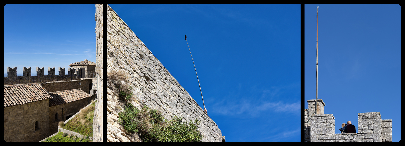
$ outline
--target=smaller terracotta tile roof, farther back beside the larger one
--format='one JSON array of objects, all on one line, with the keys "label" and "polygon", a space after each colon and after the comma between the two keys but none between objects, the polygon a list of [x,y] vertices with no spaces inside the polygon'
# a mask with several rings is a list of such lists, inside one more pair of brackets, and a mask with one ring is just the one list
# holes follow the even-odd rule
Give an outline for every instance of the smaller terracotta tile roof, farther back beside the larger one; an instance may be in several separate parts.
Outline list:
[{"label": "smaller terracotta tile roof, farther back beside the larger one", "polygon": [[49,106],[57,106],[61,104],[66,104],[76,100],[91,97],[91,95],[85,93],[81,89],[72,89],[64,91],[50,92],[52,99],[49,100]]}]

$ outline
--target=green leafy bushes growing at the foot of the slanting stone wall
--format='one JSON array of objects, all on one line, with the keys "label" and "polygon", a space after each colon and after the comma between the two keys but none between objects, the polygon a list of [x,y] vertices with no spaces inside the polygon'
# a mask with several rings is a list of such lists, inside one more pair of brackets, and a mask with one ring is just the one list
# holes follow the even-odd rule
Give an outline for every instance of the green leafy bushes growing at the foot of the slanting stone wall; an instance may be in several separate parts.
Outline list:
[{"label": "green leafy bushes growing at the foot of the slanting stone wall", "polygon": [[182,117],[172,116],[172,120],[167,121],[158,110],[146,105],[138,110],[130,103],[119,113],[119,124],[140,135],[143,142],[200,142],[203,136],[198,130],[198,120],[185,123],[182,120]]}]

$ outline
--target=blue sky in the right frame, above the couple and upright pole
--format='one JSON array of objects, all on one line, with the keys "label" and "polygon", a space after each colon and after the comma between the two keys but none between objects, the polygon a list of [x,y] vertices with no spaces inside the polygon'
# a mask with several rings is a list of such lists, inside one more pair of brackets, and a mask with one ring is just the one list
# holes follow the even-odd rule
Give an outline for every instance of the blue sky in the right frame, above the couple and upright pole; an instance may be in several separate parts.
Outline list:
[{"label": "blue sky in the right frame, above the couple and upright pole", "polygon": [[[305,4],[305,108],[315,99],[316,6],[318,99],[325,114],[358,127],[357,113],[392,119],[392,142],[401,140],[401,6]],[[356,129],[357,131],[357,129]]]}]

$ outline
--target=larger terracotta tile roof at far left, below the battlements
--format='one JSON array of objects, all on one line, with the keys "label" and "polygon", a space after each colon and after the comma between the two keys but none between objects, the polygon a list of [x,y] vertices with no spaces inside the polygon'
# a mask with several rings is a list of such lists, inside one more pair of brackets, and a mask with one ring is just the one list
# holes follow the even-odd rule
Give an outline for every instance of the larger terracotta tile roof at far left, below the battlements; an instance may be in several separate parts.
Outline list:
[{"label": "larger terracotta tile roof at far left, below the battlements", "polygon": [[4,108],[51,98],[41,84],[4,85]]}]

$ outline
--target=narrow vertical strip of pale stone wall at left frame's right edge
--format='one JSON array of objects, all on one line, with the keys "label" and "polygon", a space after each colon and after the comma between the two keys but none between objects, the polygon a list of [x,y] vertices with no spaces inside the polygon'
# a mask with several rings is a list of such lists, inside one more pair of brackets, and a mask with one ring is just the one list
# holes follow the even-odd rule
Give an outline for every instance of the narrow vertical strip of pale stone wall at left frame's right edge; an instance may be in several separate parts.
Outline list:
[{"label": "narrow vertical strip of pale stone wall at left frame's right edge", "polygon": [[103,142],[103,4],[96,4],[96,88],[97,88],[97,105],[94,107],[93,122],[93,142]]}]

